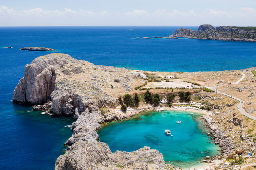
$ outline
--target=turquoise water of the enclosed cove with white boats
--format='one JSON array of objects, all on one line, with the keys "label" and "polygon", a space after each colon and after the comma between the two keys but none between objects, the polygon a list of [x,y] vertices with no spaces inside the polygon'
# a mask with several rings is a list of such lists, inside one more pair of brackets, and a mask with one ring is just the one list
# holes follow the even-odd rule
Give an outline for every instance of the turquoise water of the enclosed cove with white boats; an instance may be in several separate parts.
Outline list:
[{"label": "turquoise water of the enclosed cove with white boats", "polygon": [[[206,135],[209,129],[202,114],[184,111],[146,112],[135,118],[110,122],[98,131],[101,142],[116,150],[134,151],[149,146],[163,154],[164,161],[175,167],[198,165],[203,158],[220,154],[220,147]],[[181,121],[177,124],[176,121]],[[164,133],[171,131],[171,136]]]}]

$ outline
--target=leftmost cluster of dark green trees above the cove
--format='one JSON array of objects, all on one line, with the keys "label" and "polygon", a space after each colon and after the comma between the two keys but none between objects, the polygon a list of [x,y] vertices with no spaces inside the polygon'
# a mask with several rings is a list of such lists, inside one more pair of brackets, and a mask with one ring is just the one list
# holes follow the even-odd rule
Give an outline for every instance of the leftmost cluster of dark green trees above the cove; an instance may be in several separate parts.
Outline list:
[{"label": "leftmost cluster of dark green trees above the cove", "polygon": [[131,94],[125,94],[123,96],[123,100],[122,100],[122,97],[119,96],[118,102],[121,105],[121,110],[126,111],[128,106],[131,106],[131,107],[139,106],[139,96],[137,93],[135,93],[133,97]]}]

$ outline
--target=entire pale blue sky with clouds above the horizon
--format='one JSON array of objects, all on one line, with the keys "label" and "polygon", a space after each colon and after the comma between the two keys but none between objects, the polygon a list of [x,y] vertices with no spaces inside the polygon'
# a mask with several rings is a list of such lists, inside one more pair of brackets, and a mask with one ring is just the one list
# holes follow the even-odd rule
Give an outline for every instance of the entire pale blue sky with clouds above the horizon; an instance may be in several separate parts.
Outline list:
[{"label": "entire pale blue sky with clouds above the horizon", "polygon": [[1,0],[0,26],[256,26],[256,0]]}]

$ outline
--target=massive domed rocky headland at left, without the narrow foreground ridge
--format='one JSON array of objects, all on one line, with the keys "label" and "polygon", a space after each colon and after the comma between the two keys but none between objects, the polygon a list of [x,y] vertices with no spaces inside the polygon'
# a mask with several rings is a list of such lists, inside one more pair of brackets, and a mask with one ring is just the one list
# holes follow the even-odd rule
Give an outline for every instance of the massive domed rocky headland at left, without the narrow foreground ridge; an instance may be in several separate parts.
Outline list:
[{"label": "massive domed rocky headland at left, without the narrow foreground ridge", "polygon": [[[126,69],[113,72],[112,67],[95,66],[67,54],[41,56],[25,66],[24,77],[20,79],[12,98],[14,102],[31,104],[48,101],[57,115],[72,115],[75,110],[78,113],[86,109],[98,110],[103,105],[114,108],[116,98],[106,92],[114,88],[130,90],[128,82],[138,77],[130,76]],[[118,76],[121,72],[127,75]],[[118,82],[115,82],[116,79]]]}]

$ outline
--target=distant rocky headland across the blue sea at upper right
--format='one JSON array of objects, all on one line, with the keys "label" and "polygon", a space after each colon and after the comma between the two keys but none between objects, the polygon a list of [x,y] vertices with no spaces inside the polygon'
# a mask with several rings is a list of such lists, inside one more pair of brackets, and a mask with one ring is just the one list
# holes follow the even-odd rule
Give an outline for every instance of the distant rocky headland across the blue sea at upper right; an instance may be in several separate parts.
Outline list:
[{"label": "distant rocky headland across the blue sea at upper right", "polygon": [[172,36],[207,40],[256,42],[256,27],[200,25],[198,31],[186,28],[177,29]]}]

